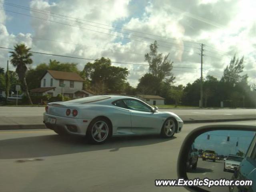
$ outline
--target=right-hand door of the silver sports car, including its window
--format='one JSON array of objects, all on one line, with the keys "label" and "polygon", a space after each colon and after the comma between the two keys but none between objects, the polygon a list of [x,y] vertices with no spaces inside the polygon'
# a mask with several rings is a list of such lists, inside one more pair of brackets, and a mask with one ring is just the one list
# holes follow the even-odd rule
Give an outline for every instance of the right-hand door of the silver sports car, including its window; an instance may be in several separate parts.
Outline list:
[{"label": "right-hand door of the silver sports car, including its window", "polygon": [[132,132],[136,134],[160,133],[162,119],[147,104],[136,99],[124,99],[131,112]]}]

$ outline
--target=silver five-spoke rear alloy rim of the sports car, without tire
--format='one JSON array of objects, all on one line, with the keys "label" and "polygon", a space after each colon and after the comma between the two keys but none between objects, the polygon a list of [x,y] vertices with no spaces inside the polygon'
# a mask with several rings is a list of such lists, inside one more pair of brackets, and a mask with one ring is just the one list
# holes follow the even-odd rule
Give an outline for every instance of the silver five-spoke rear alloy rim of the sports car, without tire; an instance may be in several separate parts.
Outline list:
[{"label": "silver five-spoke rear alloy rim of the sports car, without tire", "polygon": [[92,126],[92,138],[97,142],[102,142],[108,137],[108,124],[104,121],[97,121]]}]

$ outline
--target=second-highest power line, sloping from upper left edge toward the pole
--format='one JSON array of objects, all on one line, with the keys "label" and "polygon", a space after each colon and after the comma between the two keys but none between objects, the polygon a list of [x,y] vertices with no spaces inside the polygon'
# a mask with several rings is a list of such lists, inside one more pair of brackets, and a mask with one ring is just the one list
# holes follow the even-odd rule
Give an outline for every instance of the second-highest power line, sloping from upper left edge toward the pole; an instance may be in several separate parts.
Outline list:
[{"label": "second-highest power line, sloping from upper left edge toward the pole", "polygon": [[[98,32],[98,33],[101,33],[101,34],[115,36],[115,37],[118,37],[118,38],[129,39],[129,40],[133,40],[133,41],[142,42],[142,43],[145,43],[145,44],[152,44],[150,42],[145,42],[145,41],[141,41],[141,40],[137,40],[137,39],[132,39],[132,38],[128,38],[128,37],[118,36],[118,35],[114,35],[114,34],[110,34],[110,33],[100,32],[100,31],[96,31],[96,30],[92,30],[92,29],[82,28],[80,26],[74,26],[74,25],[70,25],[70,24],[66,24],[66,23],[62,23],[62,22],[57,22],[57,21],[53,21],[53,20],[48,20],[48,19],[36,17],[36,16],[31,16],[31,15],[27,15],[27,14],[23,14],[23,13],[18,13],[18,12],[15,12],[15,11],[5,10],[5,9],[1,9],[1,8],[0,8],[0,10],[4,10],[6,12],[12,12],[12,13],[16,13],[16,14],[32,17],[32,18],[37,18],[37,19],[41,19],[41,20],[45,20],[45,21],[50,21],[50,22],[54,22],[54,23],[58,23],[58,24],[63,24],[63,25],[66,25],[66,26],[72,26],[72,27],[76,27],[76,28],[80,28],[80,29],[84,29],[84,30],[89,30],[89,31],[92,31],[92,32]],[[158,46],[170,48],[169,46],[164,46],[164,45],[160,45],[160,44],[158,44]],[[181,51],[184,51],[184,52],[190,52],[190,51],[187,51],[187,50],[182,50],[182,49],[177,49],[177,48],[171,48],[171,49],[181,50]]]}]

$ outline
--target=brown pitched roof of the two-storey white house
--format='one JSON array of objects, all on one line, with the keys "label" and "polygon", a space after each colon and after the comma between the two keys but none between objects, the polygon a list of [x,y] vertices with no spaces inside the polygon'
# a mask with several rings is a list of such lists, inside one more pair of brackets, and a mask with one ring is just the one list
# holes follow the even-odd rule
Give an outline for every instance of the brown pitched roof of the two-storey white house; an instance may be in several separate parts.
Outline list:
[{"label": "brown pitched roof of the two-storey white house", "polygon": [[[71,81],[84,81],[82,77],[80,77],[75,72],[65,72],[65,71],[53,71],[47,70],[46,73],[49,73],[54,79],[62,79],[62,80],[71,80]],[[45,74],[46,74],[45,73]],[[44,74],[44,76],[45,76]],[[44,77],[43,76],[43,77]],[[42,78],[43,78],[42,77]],[[42,79],[41,78],[41,79]]]}]

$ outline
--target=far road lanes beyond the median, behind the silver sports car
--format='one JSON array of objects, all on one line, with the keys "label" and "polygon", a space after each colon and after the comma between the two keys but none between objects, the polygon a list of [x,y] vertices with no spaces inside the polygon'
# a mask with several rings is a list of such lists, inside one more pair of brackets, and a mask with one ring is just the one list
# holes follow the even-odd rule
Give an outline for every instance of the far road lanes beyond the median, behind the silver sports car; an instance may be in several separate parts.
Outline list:
[{"label": "far road lanes beyond the median, behind the silver sports car", "polygon": [[[255,118],[256,109],[160,109],[174,112],[184,121]],[[0,107],[1,125],[42,125],[44,107]]]}]

